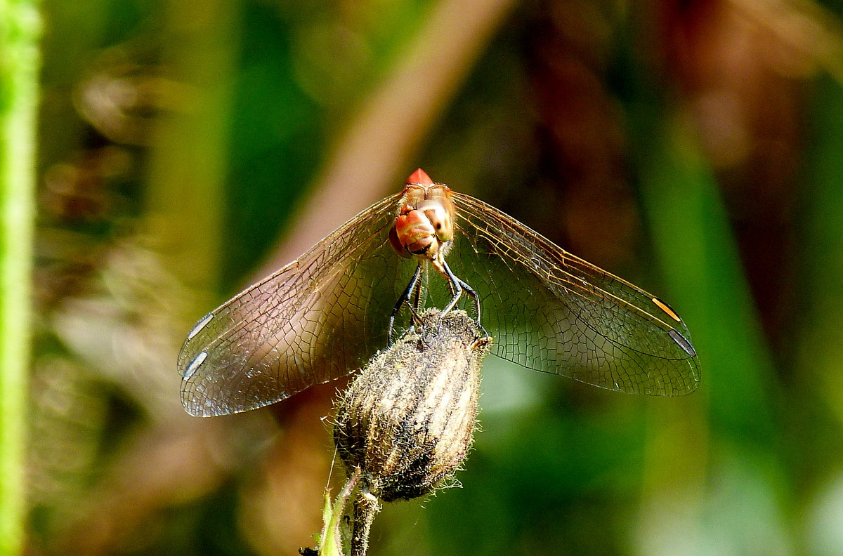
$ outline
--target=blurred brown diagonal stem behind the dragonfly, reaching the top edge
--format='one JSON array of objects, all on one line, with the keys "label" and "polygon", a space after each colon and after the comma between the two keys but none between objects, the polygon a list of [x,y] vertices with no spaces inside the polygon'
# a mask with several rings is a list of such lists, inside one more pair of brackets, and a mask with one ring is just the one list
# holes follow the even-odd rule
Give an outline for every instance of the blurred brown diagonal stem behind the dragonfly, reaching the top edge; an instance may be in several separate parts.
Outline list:
[{"label": "blurred brown diagonal stem behind the dragonfly, reaching the top edge", "polygon": [[396,179],[416,169],[407,160],[448,107],[512,4],[441,0],[416,29],[409,29],[412,40],[404,56],[362,102],[359,115],[327,158],[313,194],[295,218],[295,235],[279,245],[256,277],[286,265],[373,200],[398,192],[403,179]]}]

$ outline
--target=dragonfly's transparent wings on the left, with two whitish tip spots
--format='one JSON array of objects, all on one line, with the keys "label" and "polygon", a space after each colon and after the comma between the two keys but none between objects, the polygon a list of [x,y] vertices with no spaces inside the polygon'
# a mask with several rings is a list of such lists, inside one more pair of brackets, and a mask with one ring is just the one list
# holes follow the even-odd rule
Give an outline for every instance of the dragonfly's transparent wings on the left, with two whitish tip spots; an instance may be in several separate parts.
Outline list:
[{"label": "dragonfly's transparent wings on the left, with two whitish tip spots", "polygon": [[380,200],[201,318],[179,354],[185,409],[220,415],[272,404],[345,376],[384,348],[389,315],[417,264],[389,245],[399,200]]}]

